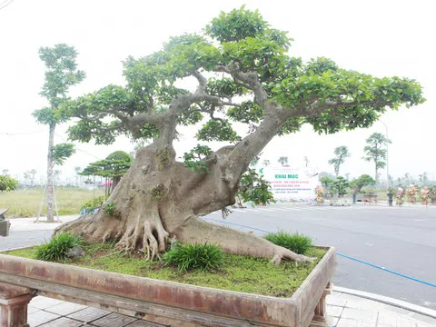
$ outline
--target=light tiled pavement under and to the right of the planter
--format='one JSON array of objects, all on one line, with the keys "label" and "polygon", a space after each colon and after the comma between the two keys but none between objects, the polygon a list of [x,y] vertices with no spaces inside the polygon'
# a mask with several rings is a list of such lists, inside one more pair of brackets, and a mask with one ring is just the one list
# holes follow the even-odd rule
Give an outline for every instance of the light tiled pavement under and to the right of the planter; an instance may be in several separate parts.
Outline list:
[{"label": "light tiled pavement under and to the right of the planter", "polygon": [[[436,319],[404,309],[332,292],[327,312],[336,327],[435,327]],[[31,327],[162,327],[122,314],[38,296],[29,304]]]}]

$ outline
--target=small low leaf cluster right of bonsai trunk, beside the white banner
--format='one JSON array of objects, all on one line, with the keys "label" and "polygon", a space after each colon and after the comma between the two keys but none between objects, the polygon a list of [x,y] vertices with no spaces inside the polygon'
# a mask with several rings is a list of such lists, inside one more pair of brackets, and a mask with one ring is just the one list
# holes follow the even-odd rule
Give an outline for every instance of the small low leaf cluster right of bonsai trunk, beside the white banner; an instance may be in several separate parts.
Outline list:
[{"label": "small low leaf cluster right of bonsai trunk, beside the white banner", "polygon": [[263,175],[249,168],[241,177],[237,194],[243,202],[253,202],[256,205],[275,203],[273,194],[268,191],[270,188],[271,184],[263,179]]}]

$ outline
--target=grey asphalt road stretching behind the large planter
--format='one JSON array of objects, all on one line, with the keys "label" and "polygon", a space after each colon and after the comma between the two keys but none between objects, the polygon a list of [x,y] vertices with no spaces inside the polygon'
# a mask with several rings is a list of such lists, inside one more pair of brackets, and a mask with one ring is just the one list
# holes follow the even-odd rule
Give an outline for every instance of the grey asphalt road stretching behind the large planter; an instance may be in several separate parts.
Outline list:
[{"label": "grey asphalt road stretching behind the large planter", "polygon": [[[221,213],[212,213],[205,219],[223,222]],[[0,238],[0,249],[43,242],[54,228],[44,223],[22,227],[11,222],[11,233]],[[316,207],[283,203],[234,210],[224,222],[271,232],[282,229],[305,233],[312,236],[313,243],[335,246],[338,253],[436,283],[435,207]],[[342,257],[338,257],[333,282],[436,310],[436,288]]]}]

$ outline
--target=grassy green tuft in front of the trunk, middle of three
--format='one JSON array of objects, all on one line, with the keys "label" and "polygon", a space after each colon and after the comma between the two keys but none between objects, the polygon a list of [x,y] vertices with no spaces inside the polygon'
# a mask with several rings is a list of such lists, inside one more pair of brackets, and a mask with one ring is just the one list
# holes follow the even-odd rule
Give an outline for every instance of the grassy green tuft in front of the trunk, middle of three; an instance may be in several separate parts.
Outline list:
[{"label": "grassy green tuft in front of the trunk, middle of three", "polygon": [[166,264],[176,266],[181,272],[217,269],[223,264],[223,260],[223,250],[207,243],[177,245],[163,255]]}]

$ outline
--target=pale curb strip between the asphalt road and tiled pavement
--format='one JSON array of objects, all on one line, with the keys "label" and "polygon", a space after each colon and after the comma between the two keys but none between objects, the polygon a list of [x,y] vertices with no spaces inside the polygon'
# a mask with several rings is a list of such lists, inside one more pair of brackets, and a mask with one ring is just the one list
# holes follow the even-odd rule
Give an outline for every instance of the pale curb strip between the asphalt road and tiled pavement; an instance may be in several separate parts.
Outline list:
[{"label": "pale curb strip between the asphalt road and tiled pavement", "polygon": [[362,297],[364,299],[372,300],[375,302],[389,304],[391,306],[395,306],[395,307],[405,309],[405,310],[408,310],[411,312],[420,313],[422,315],[426,315],[428,317],[436,319],[436,311],[434,311],[434,310],[422,307],[420,305],[412,304],[409,302],[393,299],[393,298],[390,298],[388,296],[374,294],[371,292],[362,292],[362,291],[352,290],[352,289],[348,289],[345,287],[339,287],[336,285],[333,286],[333,292],[342,292],[344,294],[350,294],[350,295]]}]

